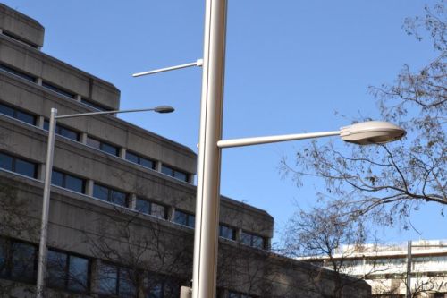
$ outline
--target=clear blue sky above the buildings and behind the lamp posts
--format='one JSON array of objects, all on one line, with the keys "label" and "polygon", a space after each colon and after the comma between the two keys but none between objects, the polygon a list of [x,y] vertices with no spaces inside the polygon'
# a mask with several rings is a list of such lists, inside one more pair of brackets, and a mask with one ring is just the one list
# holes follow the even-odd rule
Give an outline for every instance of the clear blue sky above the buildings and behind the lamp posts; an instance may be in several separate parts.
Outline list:
[{"label": "clear blue sky above the buildings and behind the lamp posts", "polygon": [[[203,0],[3,0],[46,28],[43,51],[121,89],[121,108],[168,104],[172,115],[124,120],[197,151],[201,70],[150,77],[131,73],[195,61],[202,55]],[[402,30],[424,4],[409,0],[229,0],[224,138],[337,130],[358,116],[377,118],[369,85],[391,83],[402,64],[434,57],[429,43]],[[344,115],[344,116],[343,116]],[[315,203],[316,181],[297,188],[282,178],[283,156],[303,143],[227,149],[221,192],[266,209],[280,238],[295,202]],[[422,233],[386,230],[386,241],[447,238],[433,205],[414,213]],[[436,228],[437,227],[437,228]],[[441,228],[440,228],[441,227]]]}]

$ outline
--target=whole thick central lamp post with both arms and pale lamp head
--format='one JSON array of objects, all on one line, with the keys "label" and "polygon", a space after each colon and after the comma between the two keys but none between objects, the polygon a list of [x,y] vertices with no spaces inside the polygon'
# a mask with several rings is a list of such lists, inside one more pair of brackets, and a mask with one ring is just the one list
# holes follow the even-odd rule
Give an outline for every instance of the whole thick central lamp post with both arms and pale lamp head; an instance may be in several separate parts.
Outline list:
[{"label": "whole thick central lamp post with both arms and pale lamp head", "polygon": [[[202,66],[202,92],[198,140],[198,185],[192,298],[215,298],[221,155],[223,148],[257,145],[285,140],[304,140],[340,135],[342,140],[360,145],[398,140],[405,131],[392,123],[372,121],[342,127],[340,131],[283,136],[221,140],[223,127],[223,81],[227,0],[206,0],[203,60],[155,71],[139,72],[134,77]],[[189,296],[190,291],[182,295]]]}]

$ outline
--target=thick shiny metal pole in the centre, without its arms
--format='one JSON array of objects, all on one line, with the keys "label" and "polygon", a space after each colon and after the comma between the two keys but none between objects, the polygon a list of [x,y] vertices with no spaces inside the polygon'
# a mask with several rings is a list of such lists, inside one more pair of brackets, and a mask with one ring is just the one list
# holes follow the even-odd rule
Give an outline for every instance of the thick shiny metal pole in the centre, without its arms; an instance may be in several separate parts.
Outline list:
[{"label": "thick shiny metal pole in the centre, without its arms", "polygon": [[205,13],[193,298],[214,298],[219,227],[226,0],[207,0]]}]

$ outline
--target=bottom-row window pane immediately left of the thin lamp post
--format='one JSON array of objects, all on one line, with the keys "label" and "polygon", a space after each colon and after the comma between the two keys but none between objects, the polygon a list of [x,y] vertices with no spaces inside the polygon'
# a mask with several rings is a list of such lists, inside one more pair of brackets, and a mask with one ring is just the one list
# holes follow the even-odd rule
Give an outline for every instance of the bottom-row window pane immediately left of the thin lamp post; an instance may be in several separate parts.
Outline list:
[{"label": "bottom-row window pane immediately left of the thin lamp post", "polygon": [[11,277],[22,281],[34,280],[36,249],[27,243],[13,243]]}]

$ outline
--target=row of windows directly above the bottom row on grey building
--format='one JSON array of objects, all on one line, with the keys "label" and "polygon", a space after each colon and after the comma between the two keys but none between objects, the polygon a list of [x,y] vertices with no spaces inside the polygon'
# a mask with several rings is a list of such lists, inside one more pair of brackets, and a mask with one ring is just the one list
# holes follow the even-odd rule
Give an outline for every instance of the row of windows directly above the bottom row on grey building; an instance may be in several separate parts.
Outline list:
[{"label": "row of windows directly above the bottom row on grey building", "polygon": [[[38,175],[38,164],[2,152],[0,152],[0,168],[35,179]],[[51,176],[51,183],[72,192],[86,194],[87,180],[75,175],[67,174],[54,169]],[[103,184],[93,184],[92,196],[99,200],[105,200],[122,207],[131,207],[129,194]],[[145,200],[141,197],[137,197],[136,199],[136,209],[141,213],[168,219],[167,208],[164,205]],[[194,228],[195,221],[196,218],[193,214],[175,209],[173,215],[174,223],[181,226],[189,226]],[[225,239],[236,240],[236,229],[231,226],[221,224],[219,226],[219,235]],[[266,248],[266,243],[262,236],[250,234],[245,231],[242,231],[240,234],[240,242],[259,249]]]}]

